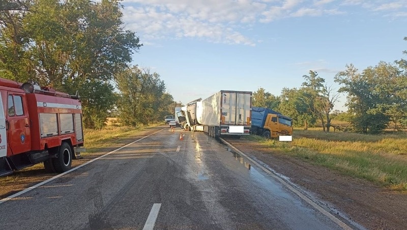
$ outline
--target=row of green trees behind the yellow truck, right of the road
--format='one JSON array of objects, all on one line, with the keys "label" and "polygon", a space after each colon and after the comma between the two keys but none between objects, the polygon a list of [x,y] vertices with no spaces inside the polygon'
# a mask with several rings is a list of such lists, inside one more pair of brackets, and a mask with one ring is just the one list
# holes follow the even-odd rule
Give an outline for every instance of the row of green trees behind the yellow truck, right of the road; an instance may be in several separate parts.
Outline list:
[{"label": "row of green trees behind the yellow truck, right of the road", "polygon": [[[404,38],[407,40],[407,37]],[[407,51],[403,51],[407,54]],[[407,126],[407,61],[379,62],[359,71],[353,64],[338,72],[335,91],[315,71],[304,75],[300,88],[284,88],[275,96],[259,88],[253,93],[253,106],[268,107],[294,119],[295,126],[320,125],[329,132],[333,116],[338,116],[361,133],[379,133],[392,126]],[[346,93],[346,112],[333,111],[339,94]]]}]

